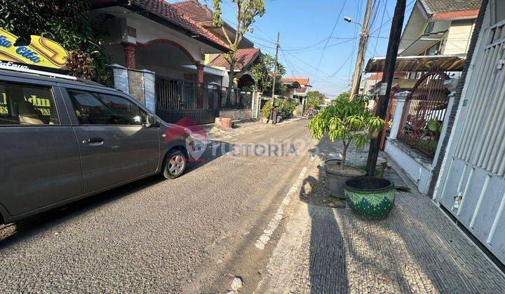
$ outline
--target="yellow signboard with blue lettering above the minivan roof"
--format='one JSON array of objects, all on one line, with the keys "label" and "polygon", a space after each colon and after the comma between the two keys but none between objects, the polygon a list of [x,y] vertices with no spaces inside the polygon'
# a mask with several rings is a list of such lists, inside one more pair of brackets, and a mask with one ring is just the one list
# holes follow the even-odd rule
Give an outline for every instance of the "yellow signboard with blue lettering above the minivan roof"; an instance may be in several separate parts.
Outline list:
[{"label": "yellow signboard with blue lettering above the minivan roof", "polygon": [[65,69],[68,54],[60,44],[42,36],[32,36],[29,45],[15,46],[17,39],[17,36],[0,29],[0,64]]}]

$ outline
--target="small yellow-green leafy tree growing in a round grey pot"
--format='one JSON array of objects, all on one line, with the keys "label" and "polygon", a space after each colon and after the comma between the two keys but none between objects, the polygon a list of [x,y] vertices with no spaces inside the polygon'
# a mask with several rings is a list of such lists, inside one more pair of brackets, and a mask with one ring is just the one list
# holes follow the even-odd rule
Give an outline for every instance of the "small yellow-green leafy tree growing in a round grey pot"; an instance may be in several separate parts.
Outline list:
[{"label": "small yellow-green leafy tree growing in a round grey pot", "polygon": [[316,139],[328,134],[332,142],[342,142],[342,158],[322,162],[325,169],[325,187],[334,197],[345,198],[346,180],[365,176],[363,169],[346,164],[349,146],[354,144],[356,148],[363,148],[370,141],[370,137],[377,135],[384,126],[384,120],[372,116],[365,104],[366,99],[361,97],[350,100],[349,97],[341,95],[309,120],[309,130]]}]

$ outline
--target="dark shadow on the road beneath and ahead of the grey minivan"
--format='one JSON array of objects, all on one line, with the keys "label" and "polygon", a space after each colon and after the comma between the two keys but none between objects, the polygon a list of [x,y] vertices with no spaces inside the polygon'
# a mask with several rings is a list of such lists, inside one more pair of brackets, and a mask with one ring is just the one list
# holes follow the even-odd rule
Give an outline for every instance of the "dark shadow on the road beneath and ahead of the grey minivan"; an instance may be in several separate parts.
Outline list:
[{"label": "dark shadow on the road beneath and ahead of the grey minivan", "polygon": [[[186,174],[182,175],[179,179],[183,179],[187,176],[198,176],[198,169],[220,158],[225,152],[229,151],[231,145],[222,141],[215,141],[215,144],[219,145],[216,152],[213,153],[211,148],[208,148],[203,153],[200,160],[192,162]],[[162,181],[178,181],[179,179],[166,180],[160,175],[149,176],[124,186],[86,197],[82,200],[77,200],[63,207],[58,207],[35,216],[24,218],[15,223],[0,225],[0,250],[23,241],[27,237],[36,235],[43,230],[47,230],[54,225],[72,221],[72,218],[85,214],[87,211],[93,211],[93,209],[105,206],[126,195],[136,193],[144,188],[159,184]]]}]

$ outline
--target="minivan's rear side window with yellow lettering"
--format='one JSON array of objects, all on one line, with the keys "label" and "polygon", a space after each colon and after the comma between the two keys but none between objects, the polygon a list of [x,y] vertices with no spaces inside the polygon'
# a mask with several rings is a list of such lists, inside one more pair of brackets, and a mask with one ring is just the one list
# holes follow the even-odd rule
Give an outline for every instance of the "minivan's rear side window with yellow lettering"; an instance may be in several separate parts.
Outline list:
[{"label": "minivan's rear side window with yellow lettering", "polygon": [[0,125],[60,125],[51,88],[0,82]]}]

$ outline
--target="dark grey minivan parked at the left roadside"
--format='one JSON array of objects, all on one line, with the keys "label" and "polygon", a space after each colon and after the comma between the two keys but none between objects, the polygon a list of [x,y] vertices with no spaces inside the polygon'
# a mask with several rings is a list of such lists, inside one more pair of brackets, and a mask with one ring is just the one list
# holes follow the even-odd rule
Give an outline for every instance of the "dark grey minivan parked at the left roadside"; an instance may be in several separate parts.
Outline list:
[{"label": "dark grey minivan parked at the left roadside", "polygon": [[191,138],[119,90],[0,70],[0,222],[154,174],[177,178]]}]

